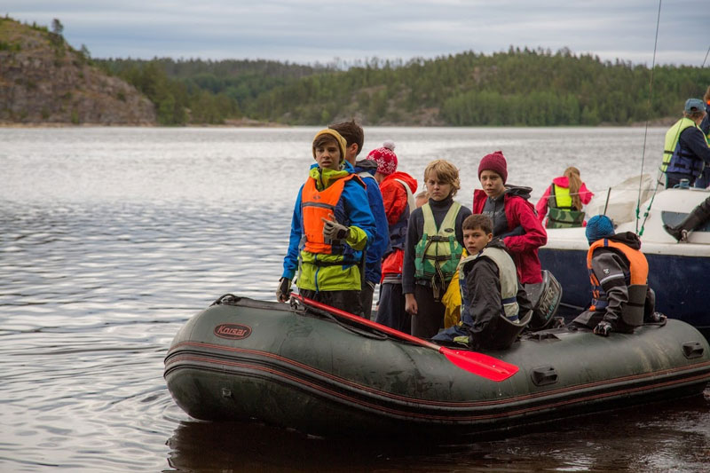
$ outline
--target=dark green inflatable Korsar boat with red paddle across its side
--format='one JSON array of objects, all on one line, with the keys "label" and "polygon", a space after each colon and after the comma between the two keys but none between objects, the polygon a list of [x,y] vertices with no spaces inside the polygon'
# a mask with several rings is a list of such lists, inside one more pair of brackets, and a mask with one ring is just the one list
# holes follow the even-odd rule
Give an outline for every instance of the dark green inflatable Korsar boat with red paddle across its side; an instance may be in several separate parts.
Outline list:
[{"label": "dark green inflatable Korsar boat with red paddle across its side", "polygon": [[164,377],[177,405],[205,421],[450,438],[700,395],[710,350],[669,319],[609,337],[548,329],[482,353],[298,296],[289,305],[227,295],[179,330]]}]

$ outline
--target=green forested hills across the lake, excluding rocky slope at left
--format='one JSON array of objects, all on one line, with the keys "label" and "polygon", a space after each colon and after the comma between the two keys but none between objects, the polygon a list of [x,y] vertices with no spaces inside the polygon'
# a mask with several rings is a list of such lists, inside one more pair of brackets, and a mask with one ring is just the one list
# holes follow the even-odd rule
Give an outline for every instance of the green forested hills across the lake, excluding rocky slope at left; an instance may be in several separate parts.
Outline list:
[{"label": "green forested hills across the lake, excluding rocky slope at left", "polygon": [[649,67],[512,47],[406,63],[374,59],[347,70],[247,60],[100,64],[157,101],[165,123],[185,116],[166,115],[162,99],[192,109],[194,119],[190,98],[201,96],[197,115],[204,122],[246,117],[321,125],[355,117],[368,125],[627,125],[677,117],[685,99],[702,97],[710,84],[710,68],[656,67],[649,110]]}]

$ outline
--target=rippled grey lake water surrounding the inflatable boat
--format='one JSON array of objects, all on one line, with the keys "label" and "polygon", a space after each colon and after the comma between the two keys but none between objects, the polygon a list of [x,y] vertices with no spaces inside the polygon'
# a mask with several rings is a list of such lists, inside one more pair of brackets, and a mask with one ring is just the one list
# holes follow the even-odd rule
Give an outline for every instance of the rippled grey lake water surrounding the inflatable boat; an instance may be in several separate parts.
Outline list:
[{"label": "rippled grey lake water surrounding the inflatable boat", "polygon": [[[198,422],[162,360],[217,296],[272,300],[315,128],[0,129],[0,471],[688,471],[710,461],[705,398],[509,438],[337,440]],[[536,201],[575,165],[588,187],[642,170],[639,129],[368,128],[399,169],[501,149]],[[644,170],[665,130],[651,129]]]}]

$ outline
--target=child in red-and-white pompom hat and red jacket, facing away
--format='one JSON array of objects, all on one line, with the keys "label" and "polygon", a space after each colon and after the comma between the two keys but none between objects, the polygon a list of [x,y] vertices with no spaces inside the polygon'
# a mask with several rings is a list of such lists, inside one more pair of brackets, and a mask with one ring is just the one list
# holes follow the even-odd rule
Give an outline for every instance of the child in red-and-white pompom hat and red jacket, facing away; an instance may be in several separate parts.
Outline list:
[{"label": "child in red-and-white pompom hat and red jacket, facing away", "polygon": [[405,296],[402,294],[402,263],[406,227],[409,216],[416,209],[414,193],[417,182],[406,172],[397,170],[398,159],[394,148],[394,143],[388,140],[382,147],[367,154],[367,160],[377,164],[375,180],[380,183],[384,213],[390,229],[390,251],[383,259],[376,321],[408,334],[412,330],[412,317],[406,313]]}]

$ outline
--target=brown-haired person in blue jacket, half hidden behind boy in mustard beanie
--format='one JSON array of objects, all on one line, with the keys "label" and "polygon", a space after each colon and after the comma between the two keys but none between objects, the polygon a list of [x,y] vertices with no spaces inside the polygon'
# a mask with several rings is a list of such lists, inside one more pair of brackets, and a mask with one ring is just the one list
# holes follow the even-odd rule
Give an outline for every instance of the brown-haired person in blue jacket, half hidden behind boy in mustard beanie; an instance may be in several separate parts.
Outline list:
[{"label": "brown-haired person in blue jacket, half hidden behind boy in mustard beanie", "polygon": [[367,246],[365,274],[362,290],[360,290],[360,303],[362,304],[363,313],[366,319],[370,319],[372,317],[372,298],[375,293],[375,285],[380,282],[382,277],[382,259],[387,248],[390,247],[390,233],[387,217],[384,215],[383,196],[375,180],[377,167],[371,161],[355,161],[362,150],[362,144],[365,140],[365,132],[358,123],[351,120],[350,122],[329,125],[328,128],[337,131],[345,138],[347,143],[345,161],[355,168],[355,173],[367,185],[367,203],[370,206],[373,217],[375,217],[375,234],[373,235],[373,240]]}]

